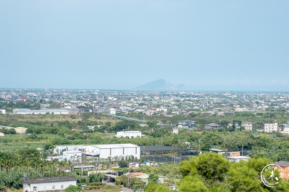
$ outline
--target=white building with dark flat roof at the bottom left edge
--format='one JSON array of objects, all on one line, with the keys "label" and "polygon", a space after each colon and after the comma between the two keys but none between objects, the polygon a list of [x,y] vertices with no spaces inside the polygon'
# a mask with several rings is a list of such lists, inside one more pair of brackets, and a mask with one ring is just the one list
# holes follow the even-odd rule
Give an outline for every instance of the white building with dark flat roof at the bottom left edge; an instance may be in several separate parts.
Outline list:
[{"label": "white building with dark flat roof at the bottom left edge", "polygon": [[24,174],[22,181],[24,192],[58,191],[71,185],[76,186],[76,177],[72,176],[28,178],[27,174]]}]

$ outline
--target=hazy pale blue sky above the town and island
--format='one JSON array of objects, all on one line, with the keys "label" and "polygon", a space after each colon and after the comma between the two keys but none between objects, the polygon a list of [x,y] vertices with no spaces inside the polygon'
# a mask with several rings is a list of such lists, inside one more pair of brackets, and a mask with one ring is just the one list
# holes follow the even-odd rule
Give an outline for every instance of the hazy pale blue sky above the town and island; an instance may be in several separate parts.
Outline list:
[{"label": "hazy pale blue sky above the town and island", "polygon": [[0,87],[289,91],[289,1],[0,1]]}]

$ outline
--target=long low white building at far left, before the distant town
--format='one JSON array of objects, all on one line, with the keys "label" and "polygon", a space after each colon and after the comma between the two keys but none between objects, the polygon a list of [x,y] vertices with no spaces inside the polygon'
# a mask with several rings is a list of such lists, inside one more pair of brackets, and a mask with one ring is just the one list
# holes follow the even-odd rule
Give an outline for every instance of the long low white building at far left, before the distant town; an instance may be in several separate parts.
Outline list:
[{"label": "long low white building at far left, before the distant town", "polygon": [[12,112],[14,114],[46,114],[54,113],[54,114],[79,114],[78,109],[41,109],[41,110],[31,110],[31,109],[13,109]]}]

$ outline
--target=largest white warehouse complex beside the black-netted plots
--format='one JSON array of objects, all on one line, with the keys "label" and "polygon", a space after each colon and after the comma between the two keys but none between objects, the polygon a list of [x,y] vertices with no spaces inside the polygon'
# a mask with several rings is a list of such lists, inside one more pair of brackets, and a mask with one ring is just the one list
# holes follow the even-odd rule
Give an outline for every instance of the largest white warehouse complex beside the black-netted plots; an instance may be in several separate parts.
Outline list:
[{"label": "largest white warehouse complex beside the black-netted plots", "polygon": [[[127,156],[133,155],[140,159],[140,147],[137,145],[133,145],[131,143],[126,144],[108,144],[108,145],[73,145],[73,146],[57,146],[53,151],[54,153],[58,154],[61,153],[63,149],[66,151],[63,152],[63,159],[69,160],[67,155],[70,156],[79,156],[79,149],[82,149],[82,154],[91,156],[91,157],[98,157],[98,158],[108,158],[108,157],[115,157],[115,156]],[[71,151],[71,153],[69,153]],[[66,156],[64,156],[66,155]]]}]

